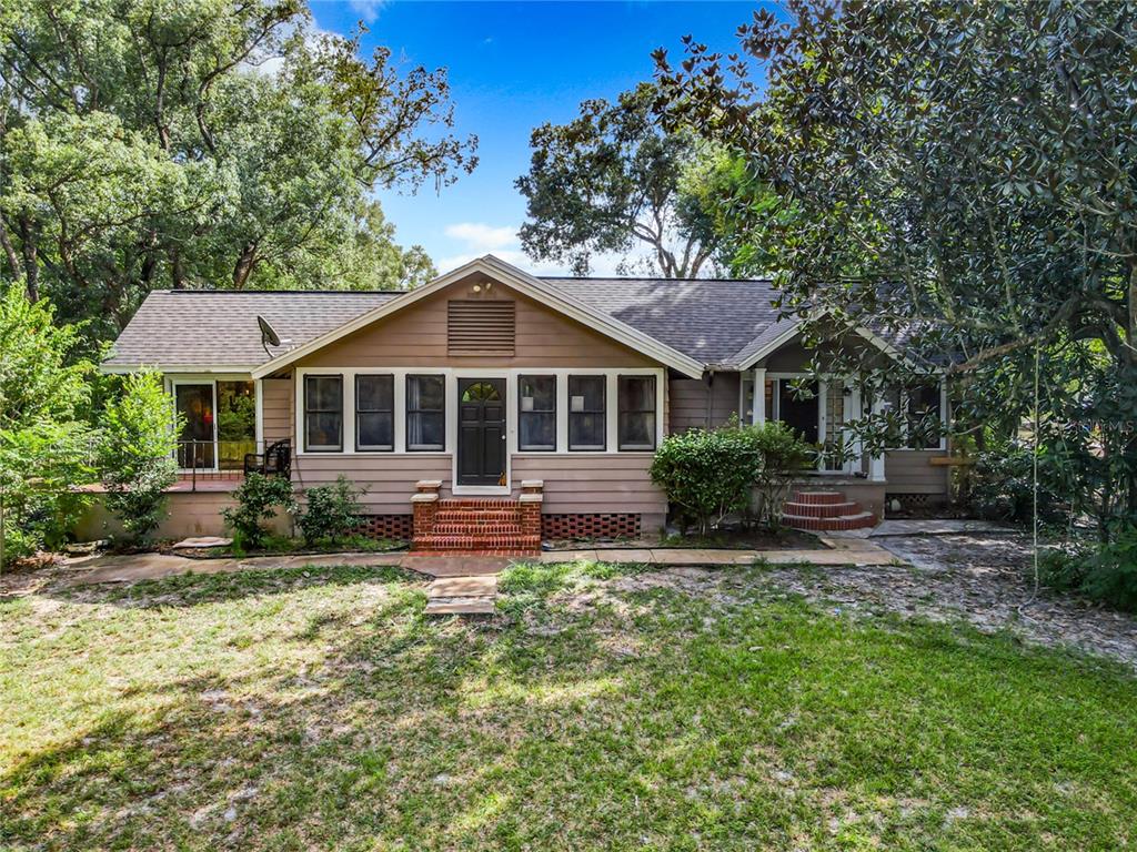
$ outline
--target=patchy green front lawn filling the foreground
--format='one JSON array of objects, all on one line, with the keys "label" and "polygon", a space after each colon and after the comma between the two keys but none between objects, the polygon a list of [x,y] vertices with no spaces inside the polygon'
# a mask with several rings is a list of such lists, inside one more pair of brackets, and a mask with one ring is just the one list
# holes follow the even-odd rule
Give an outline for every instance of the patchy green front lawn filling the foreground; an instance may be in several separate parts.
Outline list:
[{"label": "patchy green front lawn filling the foreground", "polygon": [[357,568],[0,602],[0,849],[1137,843],[1130,675],[729,570],[517,569],[481,623]]}]

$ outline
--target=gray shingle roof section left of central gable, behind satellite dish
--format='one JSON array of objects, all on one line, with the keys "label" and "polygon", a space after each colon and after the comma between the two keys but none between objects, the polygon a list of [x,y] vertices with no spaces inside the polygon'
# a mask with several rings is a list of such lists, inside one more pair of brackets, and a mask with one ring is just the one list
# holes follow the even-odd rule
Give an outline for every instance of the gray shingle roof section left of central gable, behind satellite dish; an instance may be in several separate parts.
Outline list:
[{"label": "gray shingle roof section left of central gable, behind satellite dish", "polygon": [[[252,367],[268,360],[257,317],[290,345],[318,337],[398,293],[155,290],[115,341],[107,367]],[[274,350],[280,354],[284,348]]]}]

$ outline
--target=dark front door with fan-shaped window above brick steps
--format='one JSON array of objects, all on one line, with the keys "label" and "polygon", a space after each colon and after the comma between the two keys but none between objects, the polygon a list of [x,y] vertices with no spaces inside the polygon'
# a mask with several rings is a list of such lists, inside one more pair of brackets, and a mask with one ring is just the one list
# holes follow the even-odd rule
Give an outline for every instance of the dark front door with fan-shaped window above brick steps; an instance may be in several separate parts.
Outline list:
[{"label": "dark front door with fan-shaped window above brick steps", "polygon": [[458,379],[458,485],[505,479],[505,379]]}]

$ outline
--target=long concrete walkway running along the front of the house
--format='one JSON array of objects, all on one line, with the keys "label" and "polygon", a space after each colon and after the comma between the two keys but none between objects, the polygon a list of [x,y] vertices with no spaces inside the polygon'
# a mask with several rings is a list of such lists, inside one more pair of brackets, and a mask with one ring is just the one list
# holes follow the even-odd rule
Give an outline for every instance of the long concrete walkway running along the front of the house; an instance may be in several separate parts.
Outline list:
[{"label": "long concrete walkway running along the front of the house", "polygon": [[897,558],[883,548],[860,537],[823,537],[827,550],[698,550],[680,548],[649,548],[620,550],[597,548],[588,550],[546,551],[531,560],[496,557],[415,557],[406,552],[395,553],[319,553],[308,556],[248,557],[246,559],[188,559],[165,553],[138,553],[88,559],[83,567],[89,569],[73,583],[135,583],[143,579],[160,579],[180,574],[231,574],[244,570],[273,570],[279,568],[302,568],[306,566],[395,566],[439,578],[493,577],[511,562],[537,561],[557,562],[639,562],[661,566],[727,566],[753,565],[765,561],[771,565],[808,562],[820,566],[875,566],[894,565]]}]

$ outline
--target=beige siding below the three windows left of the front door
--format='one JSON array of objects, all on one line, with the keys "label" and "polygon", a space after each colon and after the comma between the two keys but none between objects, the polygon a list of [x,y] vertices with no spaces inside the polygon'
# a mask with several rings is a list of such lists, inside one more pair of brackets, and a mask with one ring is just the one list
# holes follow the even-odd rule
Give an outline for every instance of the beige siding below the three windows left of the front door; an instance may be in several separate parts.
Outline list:
[{"label": "beige siding below the three windows left of the front door", "polygon": [[366,488],[359,498],[371,515],[408,515],[410,495],[420,479],[441,479],[449,493],[450,454],[351,454],[309,453],[292,459],[292,482],[300,488],[327,485],[343,474],[358,487]]}]

